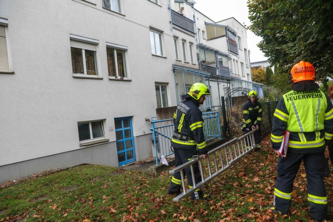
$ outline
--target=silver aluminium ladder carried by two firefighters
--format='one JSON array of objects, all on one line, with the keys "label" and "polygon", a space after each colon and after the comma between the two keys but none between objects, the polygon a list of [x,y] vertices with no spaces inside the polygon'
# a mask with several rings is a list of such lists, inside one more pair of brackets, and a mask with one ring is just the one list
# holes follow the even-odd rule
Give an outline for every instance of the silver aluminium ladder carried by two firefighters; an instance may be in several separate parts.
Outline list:
[{"label": "silver aluminium ladder carried by two firefighters", "polygon": [[[191,195],[195,190],[210,182],[214,177],[230,168],[234,163],[241,160],[243,156],[252,151],[257,145],[254,145],[253,133],[251,131],[239,138],[235,138],[208,152],[208,158],[205,165],[202,162],[202,156],[193,156],[193,160],[180,165],[169,171],[170,174],[180,172],[182,193],[175,197],[174,201],[179,201],[184,197]],[[247,144],[248,147],[247,147]],[[194,164],[199,163],[201,181],[196,183],[194,178]],[[184,169],[190,168],[192,172],[193,187],[186,189]]]}]

